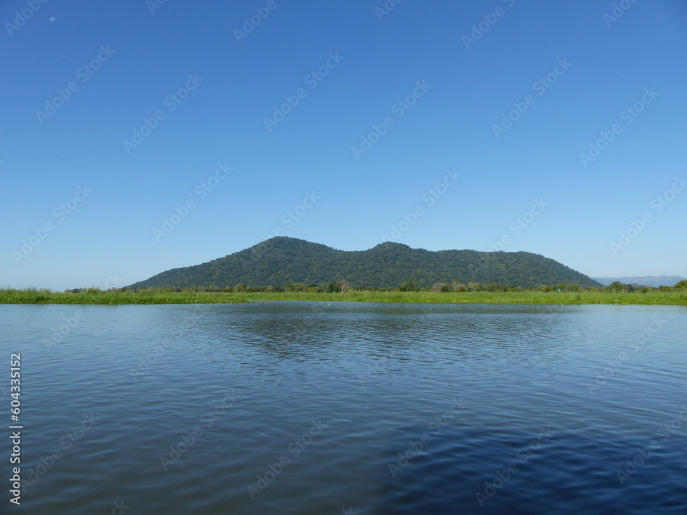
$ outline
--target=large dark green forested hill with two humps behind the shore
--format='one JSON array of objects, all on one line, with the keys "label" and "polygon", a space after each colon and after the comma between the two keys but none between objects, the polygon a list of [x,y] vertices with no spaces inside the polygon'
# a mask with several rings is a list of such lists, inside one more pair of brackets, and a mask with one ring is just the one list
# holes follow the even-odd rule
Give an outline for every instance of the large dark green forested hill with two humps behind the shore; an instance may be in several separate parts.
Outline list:
[{"label": "large dark green forested hill with two humps behind the shore", "polygon": [[423,288],[436,282],[479,282],[555,286],[600,286],[594,279],[529,252],[426,251],[385,242],[367,251],[339,251],[322,244],[277,237],[207,263],[174,268],[131,288],[188,288],[236,284],[324,285],[345,279],[352,286],[394,288],[412,281]]}]

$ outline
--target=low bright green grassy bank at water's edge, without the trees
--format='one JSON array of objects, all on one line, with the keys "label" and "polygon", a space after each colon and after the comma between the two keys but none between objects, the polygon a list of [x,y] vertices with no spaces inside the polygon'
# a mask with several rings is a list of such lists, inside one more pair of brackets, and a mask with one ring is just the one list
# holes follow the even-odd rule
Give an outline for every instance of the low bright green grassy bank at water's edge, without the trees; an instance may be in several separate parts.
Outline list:
[{"label": "low bright green grassy bank at water's edge, without the trees", "polygon": [[221,293],[170,290],[100,291],[57,293],[50,290],[0,290],[0,304],[230,304],[250,301],[349,301],[399,303],[475,304],[646,304],[687,306],[687,291],[609,292],[401,292],[357,291],[346,293]]}]

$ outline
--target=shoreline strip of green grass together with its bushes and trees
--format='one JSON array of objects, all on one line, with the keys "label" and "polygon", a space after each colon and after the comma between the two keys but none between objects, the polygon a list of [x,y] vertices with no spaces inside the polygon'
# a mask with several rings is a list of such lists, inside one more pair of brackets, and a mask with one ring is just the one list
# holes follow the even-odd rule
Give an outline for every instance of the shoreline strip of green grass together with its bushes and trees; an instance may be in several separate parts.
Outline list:
[{"label": "shoreline strip of green grass together with its bushes and trees", "polygon": [[[341,283],[341,282],[338,282]],[[684,283],[684,282],[682,282]],[[319,286],[292,284],[284,291],[273,286],[249,288],[245,284],[218,291],[216,288],[143,289],[101,291],[95,288],[67,290],[0,290],[0,304],[222,304],[251,301],[349,301],[398,303],[475,303],[475,304],[653,304],[687,306],[687,284],[673,287],[634,288],[620,283],[599,288],[530,288],[526,290],[484,290],[473,284],[473,290],[401,290],[355,289],[337,282]],[[342,288],[343,286],[343,288]],[[407,288],[408,285],[404,287]],[[435,285],[436,286],[436,285]],[[445,285],[444,285],[445,286]],[[330,290],[329,292],[326,290]],[[561,290],[561,291],[559,291]]]}]

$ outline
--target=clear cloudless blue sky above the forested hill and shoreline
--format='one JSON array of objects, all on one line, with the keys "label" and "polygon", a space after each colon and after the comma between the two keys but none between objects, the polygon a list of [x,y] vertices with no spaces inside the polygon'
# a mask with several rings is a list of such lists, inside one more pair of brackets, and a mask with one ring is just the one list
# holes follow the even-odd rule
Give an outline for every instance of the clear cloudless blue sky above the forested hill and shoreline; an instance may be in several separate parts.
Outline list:
[{"label": "clear cloudless blue sky above the forested hill and shoreline", "polygon": [[680,0],[0,3],[0,286],[290,236],[687,277]]}]

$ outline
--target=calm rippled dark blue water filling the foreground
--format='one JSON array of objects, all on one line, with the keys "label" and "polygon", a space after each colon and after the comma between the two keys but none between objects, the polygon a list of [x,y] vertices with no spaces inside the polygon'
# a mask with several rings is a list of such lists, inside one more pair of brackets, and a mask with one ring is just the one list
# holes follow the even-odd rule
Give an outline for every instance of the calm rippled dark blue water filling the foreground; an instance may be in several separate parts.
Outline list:
[{"label": "calm rippled dark blue water filling the foreground", "polygon": [[78,309],[0,306],[1,513],[687,513],[684,308]]}]

